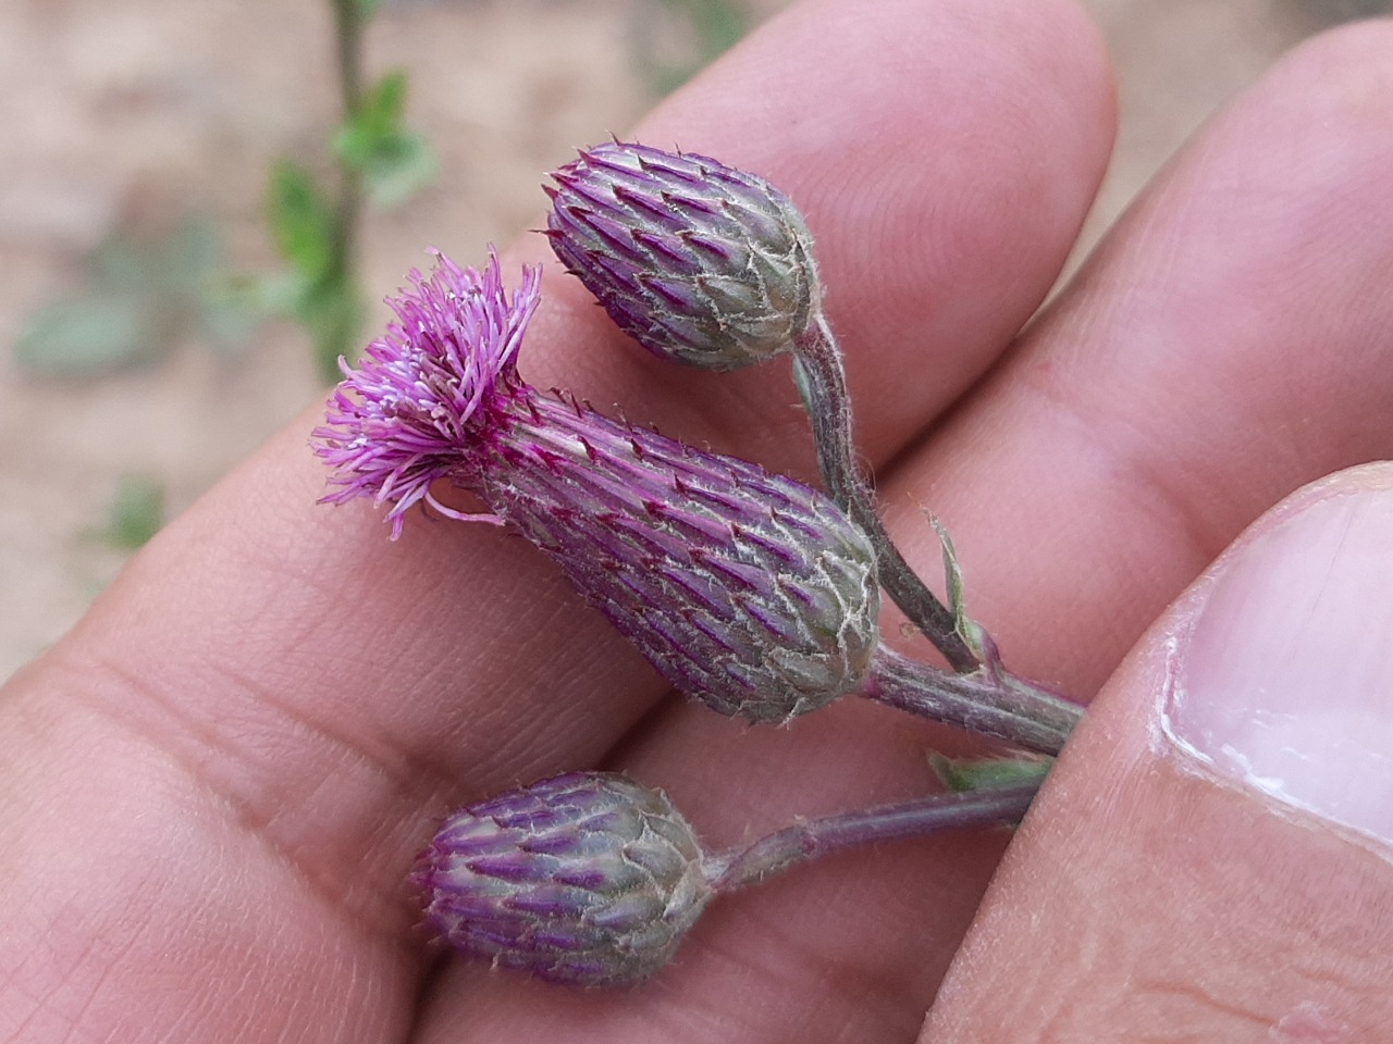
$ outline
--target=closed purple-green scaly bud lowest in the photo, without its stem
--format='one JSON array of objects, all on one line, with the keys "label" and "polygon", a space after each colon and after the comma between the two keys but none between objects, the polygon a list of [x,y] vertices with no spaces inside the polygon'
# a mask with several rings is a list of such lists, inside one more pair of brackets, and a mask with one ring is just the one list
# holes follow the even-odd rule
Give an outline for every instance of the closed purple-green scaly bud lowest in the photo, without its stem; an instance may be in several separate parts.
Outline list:
[{"label": "closed purple-green scaly bud lowest in the photo, without its stem", "polygon": [[450,816],[412,873],[426,922],[495,966],[575,986],[662,969],[712,895],[662,791],[568,773]]}]

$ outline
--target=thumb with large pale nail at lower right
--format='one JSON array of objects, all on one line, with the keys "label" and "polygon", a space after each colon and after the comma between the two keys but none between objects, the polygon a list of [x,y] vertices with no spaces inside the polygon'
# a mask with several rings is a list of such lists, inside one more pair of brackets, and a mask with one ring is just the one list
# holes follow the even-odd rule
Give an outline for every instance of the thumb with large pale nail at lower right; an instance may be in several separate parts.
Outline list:
[{"label": "thumb with large pale nail at lower right", "polygon": [[1389,592],[1389,465],[1245,533],[1089,711],[921,1040],[1383,1040]]}]

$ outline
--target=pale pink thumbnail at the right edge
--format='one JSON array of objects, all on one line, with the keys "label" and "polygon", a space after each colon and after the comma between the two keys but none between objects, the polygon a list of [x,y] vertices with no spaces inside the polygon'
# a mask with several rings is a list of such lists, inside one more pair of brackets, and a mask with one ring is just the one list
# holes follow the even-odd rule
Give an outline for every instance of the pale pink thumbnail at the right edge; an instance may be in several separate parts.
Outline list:
[{"label": "pale pink thumbnail at the right edge", "polygon": [[1216,564],[1163,725],[1212,771],[1393,845],[1393,490],[1376,476]]}]

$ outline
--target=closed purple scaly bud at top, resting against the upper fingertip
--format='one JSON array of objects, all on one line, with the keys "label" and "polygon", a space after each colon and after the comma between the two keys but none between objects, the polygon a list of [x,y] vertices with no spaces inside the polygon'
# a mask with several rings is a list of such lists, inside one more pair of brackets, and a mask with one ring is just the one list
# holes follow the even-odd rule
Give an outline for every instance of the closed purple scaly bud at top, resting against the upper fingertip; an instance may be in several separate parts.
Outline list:
[{"label": "closed purple scaly bud at top, resting against the upper fingertip", "polygon": [[627,142],[552,177],[552,249],[656,355],[736,369],[788,351],[815,316],[812,237],[763,178]]}]

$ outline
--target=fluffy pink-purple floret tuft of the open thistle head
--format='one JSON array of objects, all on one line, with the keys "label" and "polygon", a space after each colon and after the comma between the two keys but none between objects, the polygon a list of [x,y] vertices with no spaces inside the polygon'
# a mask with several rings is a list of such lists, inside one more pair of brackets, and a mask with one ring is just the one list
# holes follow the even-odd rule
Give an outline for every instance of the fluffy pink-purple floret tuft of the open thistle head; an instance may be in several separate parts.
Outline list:
[{"label": "fluffy pink-purple floret tuft of the open thistle head", "polygon": [[397,319],[386,335],[368,345],[357,367],[340,361],[344,380],[313,432],[337,486],[325,500],[366,496],[390,504],[393,537],[405,512],[432,500],[430,484],[456,469],[472,432],[515,388],[515,358],[536,309],[540,269],[524,269],[511,301],[492,249],[483,271],[437,253],[429,278],[419,271],[408,278],[410,290],[387,302]]}]

